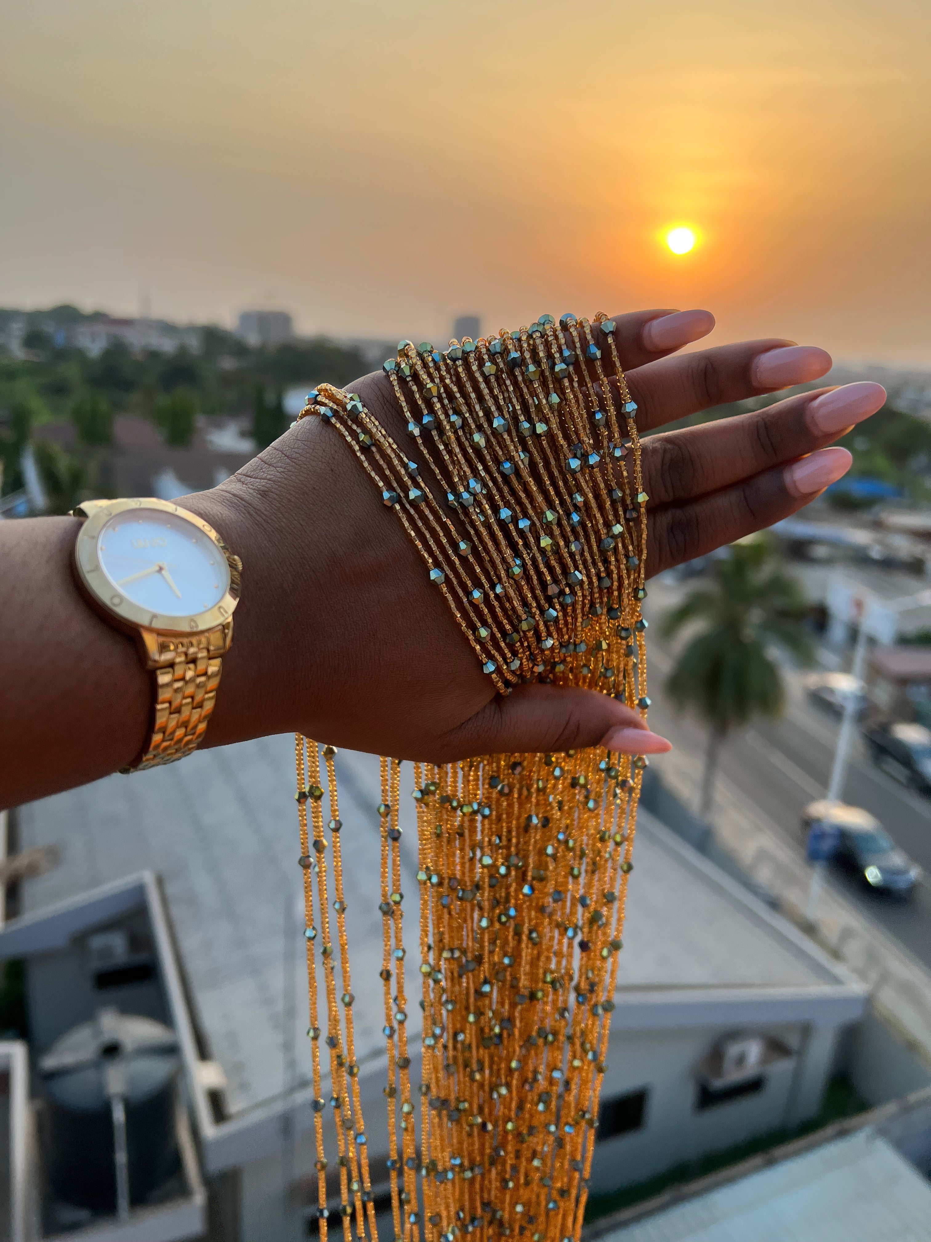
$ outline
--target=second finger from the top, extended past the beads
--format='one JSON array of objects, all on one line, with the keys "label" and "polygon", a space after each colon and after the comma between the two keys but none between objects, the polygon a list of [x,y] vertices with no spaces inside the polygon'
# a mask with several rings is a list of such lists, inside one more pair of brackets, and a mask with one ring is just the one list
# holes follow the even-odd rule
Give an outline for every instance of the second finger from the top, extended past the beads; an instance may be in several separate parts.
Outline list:
[{"label": "second finger from the top, extended past the beads", "polygon": [[628,373],[627,384],[643,432],[715,405],[809,384],[830,365],[830,354],[817,345],[742,340],[647,363]]}]

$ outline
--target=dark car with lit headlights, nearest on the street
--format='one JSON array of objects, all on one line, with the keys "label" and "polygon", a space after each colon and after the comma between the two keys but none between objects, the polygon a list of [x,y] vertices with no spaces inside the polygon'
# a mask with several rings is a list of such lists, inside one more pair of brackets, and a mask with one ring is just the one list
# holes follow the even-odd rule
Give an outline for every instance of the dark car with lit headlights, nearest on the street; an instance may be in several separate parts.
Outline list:
[{"label": "dark car with lit headlights, nearest on the street", "polygon": [[860,806],[821,799],[802,811],[802,831],[813,827],[837,833],[832,861],[860,877],[868,888],[909,897],[921,868],[900,850],[879,820]]}]

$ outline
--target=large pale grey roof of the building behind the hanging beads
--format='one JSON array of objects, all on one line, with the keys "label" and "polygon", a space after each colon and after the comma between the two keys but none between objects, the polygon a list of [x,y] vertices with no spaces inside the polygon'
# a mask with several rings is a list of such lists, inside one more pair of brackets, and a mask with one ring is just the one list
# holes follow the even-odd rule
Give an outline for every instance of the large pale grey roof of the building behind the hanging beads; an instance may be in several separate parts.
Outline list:
[{"label": "large pale grey roof of the building behind the hanging beads", "polygon": [[[22,883],[21,909],[143,869],[156,872],[209,1054],[236,1115],[309,1077],[303,898],[292,737],[205,750],[109,776],[20,810],[19,846],[56,845],[53,871]],[[356,1052],[384,1056],[377,910],[379,761],[336,759]],[[402,787],[411,769],[402,769]],[[417,889],[413,802],[402,802],[403,891]],[[351,843],[353,848],[346,847]],[[411,902],[413,915],[416,903]],[[406,919],[416,944],[416,919]],[[628,897],[617,1028],[854,1021],[864,989],[647,812]],[[818,1009],[821,1006],[821,1009]],[[411,1017],[418,1016],[415,1010]],[[413,1023],[411,1023],[413,1026]],[[412,1031],[413,1033],[413,1031]]]}]

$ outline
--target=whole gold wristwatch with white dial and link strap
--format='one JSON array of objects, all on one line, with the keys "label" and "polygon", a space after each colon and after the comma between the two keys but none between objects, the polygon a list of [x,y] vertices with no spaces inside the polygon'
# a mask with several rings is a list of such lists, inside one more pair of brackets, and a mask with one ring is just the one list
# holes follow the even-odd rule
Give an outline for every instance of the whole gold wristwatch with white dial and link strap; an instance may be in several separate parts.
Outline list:
[{"label": "whole gold wristwatch with white dial and link strap", "polygon": [[151,723],[129,768],[189,755],[204,738],[232,641],[242,561],[168,501],[86,501],[74,570],[93,609],[132,635],[153,674]]}]

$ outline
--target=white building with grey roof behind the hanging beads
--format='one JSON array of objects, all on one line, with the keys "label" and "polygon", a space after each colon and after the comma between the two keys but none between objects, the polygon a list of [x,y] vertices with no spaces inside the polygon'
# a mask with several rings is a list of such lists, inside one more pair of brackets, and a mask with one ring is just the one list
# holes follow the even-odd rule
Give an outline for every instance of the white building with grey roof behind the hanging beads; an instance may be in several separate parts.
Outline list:
[{"label": "white building with grey roof behind the hanging beads", "polygon": [[[315,1179],[293,754],[292,738],[206,750],[16,812],[19,850],[55,847],[60,859],[22,882],[0,929],[0,958],[27,963],[34,1063],[101,1005],[176,1035],[200,1167],[178,1185],[165,1230],[191,1218],[202,1174],[228,1242],[305,1236]],[[355,1048],[381,1199],[384,1013],[369,986],[381,966],[379,765],[336,761]],[[413,831],[402,846],[413,891]],[[634,859],[592,1192],[817,1114],[866,1004],[863,985],[645,812]]]}]

